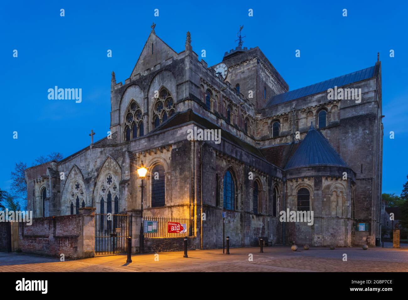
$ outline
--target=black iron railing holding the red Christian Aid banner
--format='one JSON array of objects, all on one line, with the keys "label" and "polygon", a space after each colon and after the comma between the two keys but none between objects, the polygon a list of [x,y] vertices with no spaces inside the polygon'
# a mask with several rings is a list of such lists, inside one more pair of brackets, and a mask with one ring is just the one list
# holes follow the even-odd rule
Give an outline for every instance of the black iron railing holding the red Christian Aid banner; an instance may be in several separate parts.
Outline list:
[{"label": "black iron railing holding the red Christian Aid banner", "polygon": [[[143,220],[148,222],[152,221],[151,224],[148,224],[148,226],[151,226],[150,228],[146,228],[146,226],[143,227],[144,237],[146,238],[179,238],[182,236],[193,236],[193,218],[144,217]],[[157,223],[154,224],[153,222]],[[172,224],[169,223],[180,223],[184,230],[180,233],[169,232],[169,226],[172,226]],[[186,227],[184,227],[184,225]]]}]

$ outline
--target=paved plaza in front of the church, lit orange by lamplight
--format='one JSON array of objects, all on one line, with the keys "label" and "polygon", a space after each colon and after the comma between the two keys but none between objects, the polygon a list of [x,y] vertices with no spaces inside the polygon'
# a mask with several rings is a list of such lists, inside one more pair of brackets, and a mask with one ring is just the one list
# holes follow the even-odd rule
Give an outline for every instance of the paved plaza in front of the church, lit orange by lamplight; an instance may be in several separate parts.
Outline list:
[{"label": "paved plaza in front of the church, lit orange by lamplight", "polygon": [[[58,258],[24,253],[0,253],[2,272],[403,272],[408,271],[408,249],[311,247],[293,252],[290,247],[232,248],[132,255],[98,256],[61,262]],[[347,254],[347,261],[343,260]],[[250,261],[250,258],[253,258]]]}]

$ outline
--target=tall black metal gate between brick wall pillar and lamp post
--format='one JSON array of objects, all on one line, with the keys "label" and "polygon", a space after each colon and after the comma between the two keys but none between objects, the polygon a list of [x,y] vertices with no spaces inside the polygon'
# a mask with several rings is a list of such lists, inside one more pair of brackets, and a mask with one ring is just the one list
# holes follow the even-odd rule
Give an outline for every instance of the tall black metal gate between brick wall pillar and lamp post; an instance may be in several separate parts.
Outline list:
[{"label": "tall black metal gate between brick wall pillar and lamp post", "polygon": [[126,238],[131,235],[130,215],[95,213],[95,255],[126,252]]}]

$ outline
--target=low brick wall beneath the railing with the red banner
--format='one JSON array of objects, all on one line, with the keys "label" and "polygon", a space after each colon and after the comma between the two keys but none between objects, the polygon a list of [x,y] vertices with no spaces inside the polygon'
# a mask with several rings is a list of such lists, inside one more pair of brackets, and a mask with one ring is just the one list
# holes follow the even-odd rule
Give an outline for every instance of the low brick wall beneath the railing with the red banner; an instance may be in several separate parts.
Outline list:
[{"label": "low brick wall beneath the railing with the red banner", "polygon": [[[187,238],[187,249],[195,250],[195,237]],[[144,238],[144,252],[183,251],[184,237],[181,238]]]}]

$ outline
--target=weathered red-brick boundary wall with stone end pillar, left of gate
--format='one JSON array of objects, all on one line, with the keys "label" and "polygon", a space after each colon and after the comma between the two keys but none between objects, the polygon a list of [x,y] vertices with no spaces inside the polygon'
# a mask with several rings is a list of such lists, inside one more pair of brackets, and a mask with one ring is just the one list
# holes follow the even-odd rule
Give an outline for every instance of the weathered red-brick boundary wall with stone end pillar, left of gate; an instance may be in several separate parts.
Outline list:
[{"label": "weathered red-brick boundary wall with stone end pillar, left of gate", "polygon": [[20,224],[20,249],[33,253],[66,259],[94,256],[94,210],[80,208],[80,214],[35,218],[33,224]]}]

